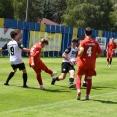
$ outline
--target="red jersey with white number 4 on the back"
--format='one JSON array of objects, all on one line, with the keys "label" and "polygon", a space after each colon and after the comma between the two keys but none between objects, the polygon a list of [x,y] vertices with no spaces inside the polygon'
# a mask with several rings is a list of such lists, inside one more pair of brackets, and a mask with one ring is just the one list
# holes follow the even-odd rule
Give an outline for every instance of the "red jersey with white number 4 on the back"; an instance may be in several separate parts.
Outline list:
[{"label": "red jersey with white number 4 on the back", "polygon": [[85,38],[80,42],[79,48],[83,47],[84,51],[82,57],[78,57],[79,67],[88,67],[95,69],[96,53],[101,54],[102,50],[97,41],[92,38]]}]

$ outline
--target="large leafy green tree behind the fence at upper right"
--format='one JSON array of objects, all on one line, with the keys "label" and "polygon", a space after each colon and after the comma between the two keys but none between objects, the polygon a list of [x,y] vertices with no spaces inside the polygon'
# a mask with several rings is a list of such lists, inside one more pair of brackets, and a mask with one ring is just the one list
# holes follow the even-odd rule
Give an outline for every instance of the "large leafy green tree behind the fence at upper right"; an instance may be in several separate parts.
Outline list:
[{"label": "large leafy green tree behind the fence at upper right", "polygon": [[69,26],[110,30],[113,26],[111,12],[113,4],[110,0],[67,0],[67,10],[62,20]]}]

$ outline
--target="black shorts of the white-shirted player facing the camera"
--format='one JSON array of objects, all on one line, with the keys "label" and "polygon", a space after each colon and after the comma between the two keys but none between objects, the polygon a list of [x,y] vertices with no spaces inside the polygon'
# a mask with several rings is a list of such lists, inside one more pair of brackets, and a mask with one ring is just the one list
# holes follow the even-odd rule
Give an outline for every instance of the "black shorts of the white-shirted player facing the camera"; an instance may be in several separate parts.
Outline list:
[{"label": "black shorts of the white-shirted player facing the camera", "polygon": [[68,62],[63,62],[62,65],[61,65],[61,73],[67,73],[67,72],[69,72],[70,70],[74,70],[74,71],[75,71],[74,66],[71,65],[71,64],[68,63]]}]

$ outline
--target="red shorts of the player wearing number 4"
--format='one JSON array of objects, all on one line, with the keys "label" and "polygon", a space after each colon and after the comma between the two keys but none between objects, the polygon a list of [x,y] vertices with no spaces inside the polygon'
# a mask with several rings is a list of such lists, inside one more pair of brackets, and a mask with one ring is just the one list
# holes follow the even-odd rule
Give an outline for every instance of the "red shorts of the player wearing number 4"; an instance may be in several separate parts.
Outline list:
[{"label": "red shorts of the player wearing number 4", "polygon": [[96,76],[96,71],[95,69],[91,69],[88,67],[78,67],[78,72],[77,74],[79,76],[86,75],[86,76]]}]

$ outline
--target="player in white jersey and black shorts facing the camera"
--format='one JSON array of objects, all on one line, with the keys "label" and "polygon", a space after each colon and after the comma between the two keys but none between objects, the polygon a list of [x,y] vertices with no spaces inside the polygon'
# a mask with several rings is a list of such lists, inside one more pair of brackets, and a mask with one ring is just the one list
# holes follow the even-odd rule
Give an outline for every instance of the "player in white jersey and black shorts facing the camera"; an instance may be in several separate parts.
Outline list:
[{"label": "player in white jersey and black shorts facing the camera", "polygon": [[[67,49],[62,54],[63,62],[61,64],[61,75],[53,78],[51,84],[54,85],[56,81],[64,80],[66,78],[67,73],[70,73],[69,78],[69,88],[74,87],[74,75],[75,75],[75,68],[74,64],[76,63],[76,55],[78,48],[76,47],[78,43],[77,38],[73,38],[71,41],[71,46],[67,47]],[[75,63],[74,63],[75,62]]]}]

